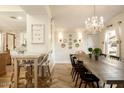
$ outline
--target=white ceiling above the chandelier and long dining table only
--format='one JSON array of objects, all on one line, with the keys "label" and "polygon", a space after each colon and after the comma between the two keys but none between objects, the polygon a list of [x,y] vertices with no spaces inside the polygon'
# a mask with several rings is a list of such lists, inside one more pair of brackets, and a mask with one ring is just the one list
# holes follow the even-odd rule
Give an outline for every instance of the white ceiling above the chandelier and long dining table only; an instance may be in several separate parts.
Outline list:
[{"label": "white ceiling above the chandelier and long dining table only", "polygon": [[[77,29],[84,27],[84,22],[93,15],[92,5],[52,5],[52,16],[57,28]],[[105,22],[124,10],[124,6],[97,5],[96,15],[103,16]]]}]

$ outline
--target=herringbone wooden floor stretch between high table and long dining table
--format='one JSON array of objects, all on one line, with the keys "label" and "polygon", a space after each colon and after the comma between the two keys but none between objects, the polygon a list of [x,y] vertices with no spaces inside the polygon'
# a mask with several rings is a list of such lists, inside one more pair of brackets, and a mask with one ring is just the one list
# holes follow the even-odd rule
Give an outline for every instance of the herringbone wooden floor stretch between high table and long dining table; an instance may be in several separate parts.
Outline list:
[{"label": "herringbone wooden floor stretch between high table and long dining table", "polygon": [[52,73],[51,88],[72,88],[73,82],[70,75],[70,64],[56,64]]}]

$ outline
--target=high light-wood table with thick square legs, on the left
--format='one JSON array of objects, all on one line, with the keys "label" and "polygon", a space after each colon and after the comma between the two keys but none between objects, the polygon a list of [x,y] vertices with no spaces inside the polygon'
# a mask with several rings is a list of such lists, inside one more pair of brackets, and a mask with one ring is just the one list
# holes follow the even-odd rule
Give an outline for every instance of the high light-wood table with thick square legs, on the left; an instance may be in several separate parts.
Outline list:
[{"label": "high light-wood table with thick square legs, on the left", "polygon": [[12,53],[11,59],[14,64],[14,83],[15,88],[18,88],[18,66],[22,60],[33,60],[34,65],[34,87],[38,87],[38,59],[41,56],[39,53]]}]

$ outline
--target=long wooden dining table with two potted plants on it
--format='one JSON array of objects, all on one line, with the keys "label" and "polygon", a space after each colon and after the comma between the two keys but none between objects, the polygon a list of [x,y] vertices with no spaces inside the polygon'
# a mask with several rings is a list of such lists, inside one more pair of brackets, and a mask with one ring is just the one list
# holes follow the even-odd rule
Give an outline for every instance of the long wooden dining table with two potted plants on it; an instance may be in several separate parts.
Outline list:
[{"label": "long wooden dining table with two potted plants on it", "polygon": [[98,61],[88,55],[77,55],[84,66],[106,84],[124,84],[124,63],[100,57]]}]

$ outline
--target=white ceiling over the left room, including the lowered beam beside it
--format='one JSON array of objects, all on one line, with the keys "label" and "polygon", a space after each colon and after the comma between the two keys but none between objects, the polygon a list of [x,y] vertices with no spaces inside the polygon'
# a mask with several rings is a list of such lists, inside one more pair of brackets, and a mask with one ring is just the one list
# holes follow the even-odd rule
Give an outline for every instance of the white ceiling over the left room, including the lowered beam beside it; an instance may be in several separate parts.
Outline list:
[{"label": "white ceiling over the left room, including the lowered beam beside it", "polygon": [[[0,31],[26,31],[26,14],[48,14],[48,7],[44,5],[0,6]],[[18,16],[21,16],[22,20],[11,18]]]}]

